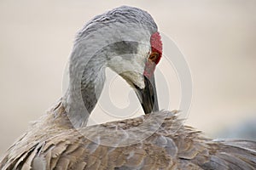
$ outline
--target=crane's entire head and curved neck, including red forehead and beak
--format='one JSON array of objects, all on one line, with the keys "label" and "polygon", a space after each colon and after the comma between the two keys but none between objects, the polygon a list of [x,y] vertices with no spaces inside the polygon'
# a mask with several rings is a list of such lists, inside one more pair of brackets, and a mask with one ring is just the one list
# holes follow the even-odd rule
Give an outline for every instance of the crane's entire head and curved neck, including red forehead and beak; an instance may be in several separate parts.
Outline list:
[{"label": "crane's entire head and curved neck, including red forehead and beak", "polygon": [[[67,105],[73,110],[85,105],[90,113],[102,92],[103,72],[108,67],[131,85],[146,114],[159,111],[154,70],[161,56],[160,33],[148,12],[122,6],[97,15],[75,39]],[[80,99],[81,106],[76,106],[78,102],[71,104]]]}]

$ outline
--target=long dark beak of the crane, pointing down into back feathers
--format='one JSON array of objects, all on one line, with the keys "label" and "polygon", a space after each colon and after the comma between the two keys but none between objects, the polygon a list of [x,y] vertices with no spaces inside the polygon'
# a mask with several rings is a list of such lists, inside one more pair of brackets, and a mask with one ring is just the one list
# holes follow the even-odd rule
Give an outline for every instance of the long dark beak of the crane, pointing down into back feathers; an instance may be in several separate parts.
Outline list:
[{"label": "long dark beak of the crane, pointing down into back feathers", "polygon": [[136,94],[143,106],[145,114],[159,111],[156,88],[154,83],[154,75],[150,78],[144,77],[145,88],[141,89],[135,85]]}]

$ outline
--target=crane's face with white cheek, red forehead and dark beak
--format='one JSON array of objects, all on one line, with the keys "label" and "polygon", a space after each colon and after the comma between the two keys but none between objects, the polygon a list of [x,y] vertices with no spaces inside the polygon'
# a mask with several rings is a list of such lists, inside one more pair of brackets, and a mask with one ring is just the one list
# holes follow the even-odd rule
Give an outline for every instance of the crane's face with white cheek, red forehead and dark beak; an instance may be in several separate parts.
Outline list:
[{"label": "crane's face with white cheek, red forehead and dark beak", "polygon": [[[128,48],[131,48],[131,42],[127,43],[130,43]],[[131,85],[143,106],[143,111],[148,114],[159,111],[154,70],[162,56],[160,33],[154,32],[148,43],[138,43],[136,48],[136,54],[113,58],[108,66]]]}]

